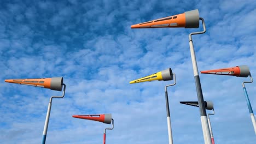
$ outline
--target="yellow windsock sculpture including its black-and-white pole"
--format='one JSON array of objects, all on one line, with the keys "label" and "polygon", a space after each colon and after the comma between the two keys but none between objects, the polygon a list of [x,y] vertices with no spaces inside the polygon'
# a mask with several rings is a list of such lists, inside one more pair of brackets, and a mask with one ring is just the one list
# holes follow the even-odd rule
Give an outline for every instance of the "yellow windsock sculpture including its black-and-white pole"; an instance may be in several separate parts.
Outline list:
[{"label": "yellow windsock sculpture including its black-and-white pole", "polygon": [[176,85],[176,77],[175,74],[172,73],[172,69],[168,68],[166,70],[159,71],[158,73],[142,77],[137,80],[130,81],[130,83],[139,83],[139,82],[147,82],[147,81],[168,81],[173,80],[174,77],[174,83],[171,85],[165,86],[165,101],[166,101],[166,112],[167,112],[167,128],[168,128],[168,139],[169,143],[173,143],[172,139],[172,128],[171,128],[171,119],[170,119],[170,109],[169,109],[169,101],[168,101],[168,93],[167,93],[167,87],[168,86],[174,86]]}]

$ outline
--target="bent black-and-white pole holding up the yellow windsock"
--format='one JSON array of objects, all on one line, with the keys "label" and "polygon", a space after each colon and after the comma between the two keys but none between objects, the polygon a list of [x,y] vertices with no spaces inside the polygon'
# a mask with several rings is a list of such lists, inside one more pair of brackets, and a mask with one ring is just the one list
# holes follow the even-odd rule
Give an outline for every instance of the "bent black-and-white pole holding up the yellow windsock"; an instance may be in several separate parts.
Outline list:
[{"label": "bent black-and-white pole holding up the yellow windsock", "polygon": [[167,128],[168,128],[168,138],[169,138],[169,144],[173,143],[172,140],[172,127],[171,127],[171,118],[170,118],[170,109],[169,109],[169,100],[168,100],[168,93],[167,93],[167,87],[176,85],[176,76],[173,74],[174,83],[171,85],[165,86],[165,103],[166,103],[166,112],[167,112]]}]

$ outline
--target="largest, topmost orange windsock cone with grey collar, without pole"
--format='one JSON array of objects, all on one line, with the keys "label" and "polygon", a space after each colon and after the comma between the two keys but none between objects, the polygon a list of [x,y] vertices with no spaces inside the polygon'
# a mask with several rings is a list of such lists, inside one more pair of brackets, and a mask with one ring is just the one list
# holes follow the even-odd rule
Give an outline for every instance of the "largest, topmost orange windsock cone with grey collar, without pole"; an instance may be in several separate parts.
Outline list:
[{"label": "largest, topmost orange windsock cone with grey collar, without pole", "polygon": [[131,28],[160,28],[160,27],[199,27],[199,11],[198,9],[186,11],[183,14],[173,15],[156,19],[148,22],[132,25]]}]

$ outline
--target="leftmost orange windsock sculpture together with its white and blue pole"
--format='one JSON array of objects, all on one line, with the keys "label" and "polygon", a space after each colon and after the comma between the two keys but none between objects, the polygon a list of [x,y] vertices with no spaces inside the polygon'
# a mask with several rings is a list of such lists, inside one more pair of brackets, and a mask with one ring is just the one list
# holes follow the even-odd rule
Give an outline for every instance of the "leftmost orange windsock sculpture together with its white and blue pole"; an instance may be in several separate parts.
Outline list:
[{"label": "leftmost orange windsock sculpture together with its white and blue pole", "polygon": [[46,141],[49,117],[51,112],[51,101],[53,100],[53,98],[63,98],[65,96],[66,85],[65,83],[63,83],[63,77],[52,77],[52,78],[43,78],[43,79],[12,79],[12,80],[5,80],[5,82],[34,86],[34,87],[49,88],[54,91],[62,91],[62,86],[64,86],[62,96],[52,96],[50,98],[50,102],[48,105],[48,110],[45,118],[44,131],[43,131],[42,143],[44,144]]}]

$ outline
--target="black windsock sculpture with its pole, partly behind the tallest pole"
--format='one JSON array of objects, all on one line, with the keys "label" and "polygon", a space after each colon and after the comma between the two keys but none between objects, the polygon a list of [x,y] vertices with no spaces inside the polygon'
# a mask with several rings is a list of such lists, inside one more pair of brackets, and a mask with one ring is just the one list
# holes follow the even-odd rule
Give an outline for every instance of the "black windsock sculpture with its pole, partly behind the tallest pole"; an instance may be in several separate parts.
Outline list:
[{"label": "black windsock sculpture with its pole, partly behind the tallest pole", "polygon": [[[180,101],[179,103],[199,107],[198,106],[198,101]],[[213,133],[212,133],[212,125],[211,125],[210,116],[209,116],[209,115],[214,115],[214,109],[213,109],[212,101],[205,101],[205,109],[213,111],[213,113],[208,113],[207,119],[208,119],[208,124],[209,124],[209,128],[210,128],[212,144],[214,144],[215,142],[214,142],[214,137],[213,137]]]}]

